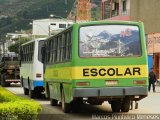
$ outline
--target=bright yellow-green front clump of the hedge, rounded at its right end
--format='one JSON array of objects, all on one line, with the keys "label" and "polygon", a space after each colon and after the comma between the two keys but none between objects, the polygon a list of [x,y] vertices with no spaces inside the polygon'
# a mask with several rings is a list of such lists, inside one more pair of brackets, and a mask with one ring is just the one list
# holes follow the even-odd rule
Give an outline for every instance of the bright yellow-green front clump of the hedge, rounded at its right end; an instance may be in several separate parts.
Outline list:
[{"label": "bright yellow-green front clump of the hedge, rounded at its right end", "polygon": [[36,119],[37,112],[41,109],[39,104],[33,101],[15,101],[0,103],[0,116],[4,118],[15,118],[15,120],[32,120]]}]

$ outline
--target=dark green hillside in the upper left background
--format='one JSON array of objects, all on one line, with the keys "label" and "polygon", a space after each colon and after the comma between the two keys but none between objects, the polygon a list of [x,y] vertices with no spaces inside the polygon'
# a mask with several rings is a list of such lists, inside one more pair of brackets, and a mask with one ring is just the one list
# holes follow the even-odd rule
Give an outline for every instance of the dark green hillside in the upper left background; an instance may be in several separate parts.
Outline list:
[{"label": "dark green hillside in the upper left background", "polygon": [[0,0],[0,38],[7,32],[31,28],[33,19],[48,18],[50,14],[67,17],[74,0]]}]

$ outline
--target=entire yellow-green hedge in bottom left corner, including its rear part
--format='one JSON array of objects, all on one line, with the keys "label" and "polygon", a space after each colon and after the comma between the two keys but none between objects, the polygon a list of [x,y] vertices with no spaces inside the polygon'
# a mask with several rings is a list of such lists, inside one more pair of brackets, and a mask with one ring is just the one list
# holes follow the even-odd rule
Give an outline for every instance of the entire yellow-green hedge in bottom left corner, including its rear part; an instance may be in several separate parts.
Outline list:
[{"label": "entire yellow-green hedge in bottom left corner, including its rear part", "polygon": [[15,96],[0,87],[0,119],[33,120],[41,111],[39,103]]}]

